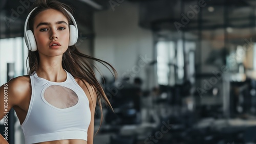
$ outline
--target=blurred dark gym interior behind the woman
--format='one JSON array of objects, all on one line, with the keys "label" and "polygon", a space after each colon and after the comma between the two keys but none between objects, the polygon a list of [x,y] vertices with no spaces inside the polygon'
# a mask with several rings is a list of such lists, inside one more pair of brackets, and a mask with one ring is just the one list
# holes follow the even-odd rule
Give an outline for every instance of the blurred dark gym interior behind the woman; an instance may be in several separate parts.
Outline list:
[{"label": "blurred dark gym interior behind the woman", "polygon": [[[79,50],[119,74],[97,64],[115,113],[103,105],[99,129],[96,107],[95,144],[256,143],[256,1],[60,2],[75,11]],[[0,1],[1,85],[27,74],[32,3]],[[9,142],[23,144],[13,111],[8,122]]]}]

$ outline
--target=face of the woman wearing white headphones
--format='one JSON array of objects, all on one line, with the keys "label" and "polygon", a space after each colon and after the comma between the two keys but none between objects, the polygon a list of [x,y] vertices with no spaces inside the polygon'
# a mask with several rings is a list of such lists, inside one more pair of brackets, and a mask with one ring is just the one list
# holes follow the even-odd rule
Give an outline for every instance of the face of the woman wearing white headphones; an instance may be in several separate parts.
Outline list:
[{"label": "face of the woman wearing white headphones", "polygon": [[35,17],[33,30],[39,55],[53,57],[67,51],[69,25],[61,12],[54,9],[41,11]]}]

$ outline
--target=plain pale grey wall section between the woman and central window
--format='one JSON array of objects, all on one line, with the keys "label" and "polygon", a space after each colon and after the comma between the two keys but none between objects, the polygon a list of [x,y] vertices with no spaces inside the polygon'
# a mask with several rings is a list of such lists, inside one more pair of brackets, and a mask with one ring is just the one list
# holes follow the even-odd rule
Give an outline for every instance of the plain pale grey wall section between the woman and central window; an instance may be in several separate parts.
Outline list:
[{"label": "plain pale grey wall section between the woman and central window", "polygon": [[[139,23],[139,5],[124,2],[120,6],[94,14],[94,56],[111,63],[119,78],[127,71],[132,79],[139,76],[145,81],[146,66],[140,56],[153,60],[153,34],[142,29]],[[107,69],[99,66],[103,75],[111,78]],[[98,75],[99,76],[99,75]]]}]

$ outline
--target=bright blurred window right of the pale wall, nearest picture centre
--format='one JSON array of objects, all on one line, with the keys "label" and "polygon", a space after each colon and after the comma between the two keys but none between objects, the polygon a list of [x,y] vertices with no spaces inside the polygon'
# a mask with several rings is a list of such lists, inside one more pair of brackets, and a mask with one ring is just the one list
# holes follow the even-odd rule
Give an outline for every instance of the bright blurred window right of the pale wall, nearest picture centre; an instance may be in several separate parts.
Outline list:
[{"label": "bright blurred window right of the pale wall, nearest picture centre", "polygon": [[159,41],[156,50],[158,84],[174,86],[186,80],[195,83],[194,41],[185,41],[184,45],[182,40]]}]

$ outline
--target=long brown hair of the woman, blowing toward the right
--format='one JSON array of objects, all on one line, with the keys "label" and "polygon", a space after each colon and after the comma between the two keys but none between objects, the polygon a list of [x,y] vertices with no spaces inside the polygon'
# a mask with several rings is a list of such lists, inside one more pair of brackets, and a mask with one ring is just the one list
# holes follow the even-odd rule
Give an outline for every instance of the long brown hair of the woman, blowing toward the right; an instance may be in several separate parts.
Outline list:
[{"label": "long brown hair of the woman, blowing toward the right", "polygon": [[[57,11],[60,11],[68,19],[69,25],[73,24],[70,16],[68,15],[68,13],[65,10],[65,9],[67,9],[70,13],[72,13],[72,9],[65,4],[62,4],[62,3],[54,1],[54,0],[37,0],[33,3],[32,8],[35,8],[35,7],[37,7],[37,9],[35,9],[35,11],[33,11],[33,13],[31,14],[31,16],[29,18],[29,21],[28,21],[28,27],[32,31],[33,31],[33,23],[34,23],[35,16],[38,13],[40,13],[41,11],[44,11],[47,9],[55,9]],[[65,9],[63,9],[63,8],[65,8]],[[30,68],[30,69],[28,69],[28,75],[33,75],[34,71],[37,70],[39,60],[40,59],[39,59],[38,51],[35,51],[35,52],[29,51],[28,52],[27,61],[29,61],[29,68]],[[117,72],[111,64],[109,64],[108,62],[105,62],[103,60],[82,54],[81,52],[79,52],[79,50],[77,49],[77,47],[75,45],[69,46],[68,50],[63,54],[62,67],[64,69],[66,69],[73,77],[76,77],[80,80],[87,81],[95,89],[96,94],[97,94],[97,103],[101,110],[101,123],[100,123],[100,126],[101,126],[102,115],[103,115],[102,101],[104,101],[106,103],[106,105],[108,105],[112,110],[113,110],[113,108],[112,108],[108,98],[106,97],[106,94],[103,91],[100,83],[96,79],[93,68],[95,68],[95,69],[97,69],[97,68],[92,63],[93,61],[103,64],[110,71],[112,69],[113,71],[111,73],[113,74],[113,76],[114,77],[117,76]],[[28,66],[27,66],[27,68],[28,68]],[[84,83],[84,85],[86,85],[86,84]],[[90,95],[90,97],[91,97],[91,95]],[[91,99],[92,99],[92,97],[91,97]],[[99,129],[98,129],[98,131],[99,131]]]}]

